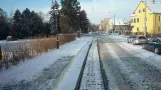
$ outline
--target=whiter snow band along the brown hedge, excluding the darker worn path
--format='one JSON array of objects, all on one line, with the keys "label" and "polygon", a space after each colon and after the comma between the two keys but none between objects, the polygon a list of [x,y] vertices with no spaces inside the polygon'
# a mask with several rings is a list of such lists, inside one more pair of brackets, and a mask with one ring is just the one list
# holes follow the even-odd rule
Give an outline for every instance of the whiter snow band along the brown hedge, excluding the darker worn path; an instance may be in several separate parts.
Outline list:
[{"label": "whiter snow band along the brown hedge, excluding the darker worn path", "polygon": [[52,65],[59,58],[76,55],[91,40],[91,37],[83,37],[62,45],[60,49],[52,50],[44,55],[26,60],[7,70],[0,71],[0,84],[16,83],[23,80],[27,82],[32,81],[41,74],[43,69]]}]

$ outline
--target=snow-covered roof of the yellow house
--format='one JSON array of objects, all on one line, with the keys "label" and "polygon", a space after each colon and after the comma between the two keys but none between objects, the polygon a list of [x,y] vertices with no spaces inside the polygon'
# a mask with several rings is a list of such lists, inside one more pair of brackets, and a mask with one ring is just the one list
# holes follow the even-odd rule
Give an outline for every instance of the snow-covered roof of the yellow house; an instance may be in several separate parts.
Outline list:
[{"label": "snow-covered roof of the yellow house", "polygon": [[147,1],[147,7],[153,12],[153,13],[161,13],[161,2],[155,2],[152,3],[150,1]]}]

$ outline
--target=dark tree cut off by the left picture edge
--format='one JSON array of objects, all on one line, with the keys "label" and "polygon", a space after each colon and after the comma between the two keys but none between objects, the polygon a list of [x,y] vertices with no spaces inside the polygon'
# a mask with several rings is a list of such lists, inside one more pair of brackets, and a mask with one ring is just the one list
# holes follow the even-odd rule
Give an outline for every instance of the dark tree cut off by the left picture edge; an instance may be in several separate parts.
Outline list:
[{"label": "dark tree cut off by the left picture edge", "polygon": [[0,8],[0,39],[6,39],[10,31],[7,22],[7,13]]}]

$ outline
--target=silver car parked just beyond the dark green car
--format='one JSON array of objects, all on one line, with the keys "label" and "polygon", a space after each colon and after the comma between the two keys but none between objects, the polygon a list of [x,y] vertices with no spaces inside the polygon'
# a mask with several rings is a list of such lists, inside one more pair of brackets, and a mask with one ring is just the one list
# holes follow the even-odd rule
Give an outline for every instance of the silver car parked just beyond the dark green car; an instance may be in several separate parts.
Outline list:
[{"label": "silver car parked just beyond the dark green car", "polygon": [[127,39],[127,42],[132,43],[133,45],[143,44],[146,41],[147,41],[147,38],[144,36],[132,36]]}]

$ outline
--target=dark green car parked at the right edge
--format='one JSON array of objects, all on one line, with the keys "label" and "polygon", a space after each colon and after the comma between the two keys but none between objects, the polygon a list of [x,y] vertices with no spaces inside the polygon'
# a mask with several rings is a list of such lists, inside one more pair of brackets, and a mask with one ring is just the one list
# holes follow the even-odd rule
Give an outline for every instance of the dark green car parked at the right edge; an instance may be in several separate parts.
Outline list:
[{"label": "dark green car parked at the right edge", "polygon": [[161,53],[161,40],[158,38],[151,38],[143,44],[143,49],[159,54]]}]

